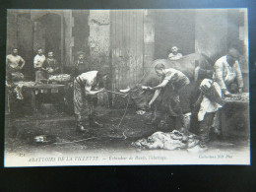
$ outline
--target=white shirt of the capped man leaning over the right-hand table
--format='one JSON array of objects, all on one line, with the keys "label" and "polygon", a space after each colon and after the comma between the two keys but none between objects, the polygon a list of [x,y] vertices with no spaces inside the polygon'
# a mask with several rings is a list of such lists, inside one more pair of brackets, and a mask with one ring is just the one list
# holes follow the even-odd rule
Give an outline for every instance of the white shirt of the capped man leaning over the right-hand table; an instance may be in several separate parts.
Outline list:
[{"label": "white shirt of the capped man leaning over the right-hand table", "polygon": [[238,61],[230,66],[226,61],[226,55],[218,59],[215,63],[216,79],[222,89],[226,90],[226,85],[231,84],[237,78],[238,87],[243,87],[242,73]]}]

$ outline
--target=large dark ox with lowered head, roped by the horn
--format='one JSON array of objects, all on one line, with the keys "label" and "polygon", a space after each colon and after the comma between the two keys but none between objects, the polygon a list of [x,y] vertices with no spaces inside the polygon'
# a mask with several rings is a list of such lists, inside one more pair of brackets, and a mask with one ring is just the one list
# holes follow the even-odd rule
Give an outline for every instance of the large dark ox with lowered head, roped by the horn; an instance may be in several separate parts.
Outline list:
[{"label": "large dark ox with lowered head, roped by the horn", "polygon": [[205,78],[212,79],[214,69],[213,62],[209,57],[203,54],[189,54],[179,60],[157,59],[152,62],[151,67],[146,69],[141,81],[126,90],[120,90],[121,93],[129,92],[137,109],[146,110],[153,96],[153,92],[143,91],[142,86],[155,87],[160,84],[160,77],[156,75],[155,65],[162,63],[166,68],[174,68],[184,73],[191,82],[191,89],[195,89]]}]

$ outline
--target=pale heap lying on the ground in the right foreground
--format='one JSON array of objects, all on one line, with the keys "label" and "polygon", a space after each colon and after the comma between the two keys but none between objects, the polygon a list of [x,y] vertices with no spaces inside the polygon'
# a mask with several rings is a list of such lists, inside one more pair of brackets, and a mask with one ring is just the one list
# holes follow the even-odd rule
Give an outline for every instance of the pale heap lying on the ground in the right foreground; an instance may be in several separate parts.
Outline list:
[{"label": "pale heap lying on the ground in the right foreground", "polygon": [[190,149],[198,145],[199,140],[196,139],[196,135],[190,134],[187,143],[182,142],[183,133],[173,130],[172,132],[163,133],[156,132],[148,139],[140,139],[132,143],[133,147],[143,149],[163,149],[163,150],[178,150],[178,149]]}]

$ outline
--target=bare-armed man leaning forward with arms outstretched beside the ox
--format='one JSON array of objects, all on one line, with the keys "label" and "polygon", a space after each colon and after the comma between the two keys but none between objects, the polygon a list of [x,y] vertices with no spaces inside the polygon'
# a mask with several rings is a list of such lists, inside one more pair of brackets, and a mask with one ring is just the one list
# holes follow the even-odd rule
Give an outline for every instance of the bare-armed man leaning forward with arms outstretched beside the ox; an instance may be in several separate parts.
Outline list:
[{"label": "bare-armed man leaning forward with arms outstretched beside the ox", "polygon": [[162,103],[169,110],[174,109],[177,115],[182,116],[182,132],[184,133],[183,142],[188,141],[188,131],[190,128],[191,107],[188,89],[190,81],[186,75],[173,68],[165,69],[162,63],[155,66],[155,71],[161,77],[160,85],[151,87],[142,87],[144,90],[155,91],[154,96],[149,102],[149,107],[160,96],[162,92]]}]

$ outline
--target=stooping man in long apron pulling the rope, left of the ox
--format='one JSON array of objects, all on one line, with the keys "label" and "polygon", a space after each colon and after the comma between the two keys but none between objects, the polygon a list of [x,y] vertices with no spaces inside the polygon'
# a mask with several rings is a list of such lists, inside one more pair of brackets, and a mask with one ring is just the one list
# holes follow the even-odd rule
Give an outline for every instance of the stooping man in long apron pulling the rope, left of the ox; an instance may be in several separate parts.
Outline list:
[{"label": "stooping man in long apron pulling the rope, left of the ox", "polygon": [[[104,92],[108,69],[89,71],[74,80],[74,110],[79,131],[88,131],[89,127],[100,126],[95,121],[94,96]],[[85,112],[85,125],[82,124],[82,112]]]}]

